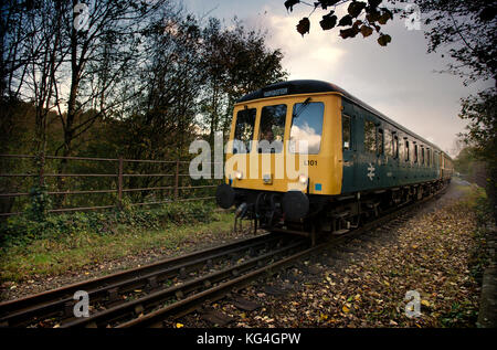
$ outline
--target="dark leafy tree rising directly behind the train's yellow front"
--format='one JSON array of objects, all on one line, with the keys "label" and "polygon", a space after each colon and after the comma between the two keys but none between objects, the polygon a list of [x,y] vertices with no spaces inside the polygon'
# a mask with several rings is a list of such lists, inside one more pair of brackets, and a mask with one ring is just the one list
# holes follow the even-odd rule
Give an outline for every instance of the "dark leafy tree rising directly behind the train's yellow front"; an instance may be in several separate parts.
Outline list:
[{"label": "dark leafy tree rising directly behind the train's yellow front", "polygon": [[282,52],[269,50],[264,33],[247,31],[236,18],[233,29],[222,29],[219,20],[210,19],[202,36],[207,76],[200,104],[212,145],[215,131],[226,134],[237,98],[284,79],[286,72]]}]

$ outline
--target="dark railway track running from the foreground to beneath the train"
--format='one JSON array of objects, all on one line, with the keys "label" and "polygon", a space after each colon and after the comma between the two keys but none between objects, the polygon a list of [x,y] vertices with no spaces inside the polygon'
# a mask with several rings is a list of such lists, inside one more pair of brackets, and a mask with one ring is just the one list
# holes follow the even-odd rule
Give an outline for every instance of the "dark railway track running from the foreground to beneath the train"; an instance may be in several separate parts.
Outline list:
[{"label": "dark railway track running from the foreground to beneath the train", "polygon": [[[341,244],[381,225],[395,225],[409,212],[442,194],[416,201],[340,236],[310,246],[308,240],[264,234],[148,266],[0,304],[2,327],[163,327],[304,256]],[[396,220],[396,221],[395,221]],[[399,221],[400,220],[400,221]],[[73,316],[76,290],[89,296],[89,317]]]}]

